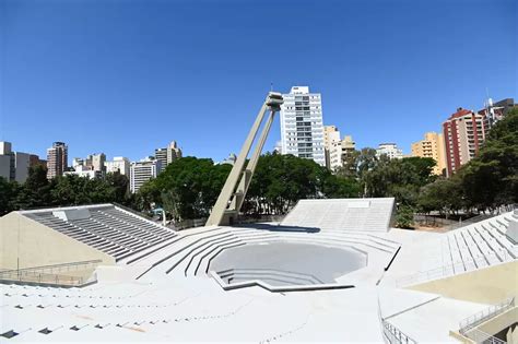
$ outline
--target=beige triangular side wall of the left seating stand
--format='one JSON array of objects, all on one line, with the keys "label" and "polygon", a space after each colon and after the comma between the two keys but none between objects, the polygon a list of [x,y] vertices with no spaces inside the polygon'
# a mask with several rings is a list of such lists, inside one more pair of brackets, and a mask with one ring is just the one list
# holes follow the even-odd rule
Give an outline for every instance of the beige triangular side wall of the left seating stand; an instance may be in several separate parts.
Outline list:
[{"label": "beige triangular side wall of the left seating stand", "polygon": [[[24,269],[86,260],[115,259],[17,212],[0,217],[0,269]],[[20,265],[19,265],[20,264]]]}]

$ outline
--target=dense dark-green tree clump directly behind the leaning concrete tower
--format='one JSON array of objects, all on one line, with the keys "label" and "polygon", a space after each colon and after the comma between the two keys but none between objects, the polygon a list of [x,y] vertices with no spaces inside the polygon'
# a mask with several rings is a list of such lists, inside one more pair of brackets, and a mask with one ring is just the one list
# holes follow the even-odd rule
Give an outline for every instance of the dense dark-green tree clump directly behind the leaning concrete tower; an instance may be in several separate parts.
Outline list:
[{"label": "dense dark-green tree clump directly behind the leaning concrete tower", "polygon": [[[232,169],[208,158],[175,161],[137,194],[141,211],[160,204],[174,220],[207,217]],[[313,161],[267,153],[259,158],[243,205],[245,214],[284,214],[307,198],[357,197],[360,185],[340,178]]]}]

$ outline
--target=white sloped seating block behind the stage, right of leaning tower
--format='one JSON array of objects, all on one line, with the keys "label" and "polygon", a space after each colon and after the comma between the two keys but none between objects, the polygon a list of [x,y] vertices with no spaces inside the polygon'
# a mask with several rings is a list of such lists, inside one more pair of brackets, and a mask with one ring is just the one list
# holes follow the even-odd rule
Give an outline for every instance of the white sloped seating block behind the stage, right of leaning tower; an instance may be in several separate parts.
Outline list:
[{"label": "white sloped seating block behind the stage, right of leaning tower", "polygon": [[393,205],[393,198],[301,200],[282,225],[321,230],[388,232]]}]

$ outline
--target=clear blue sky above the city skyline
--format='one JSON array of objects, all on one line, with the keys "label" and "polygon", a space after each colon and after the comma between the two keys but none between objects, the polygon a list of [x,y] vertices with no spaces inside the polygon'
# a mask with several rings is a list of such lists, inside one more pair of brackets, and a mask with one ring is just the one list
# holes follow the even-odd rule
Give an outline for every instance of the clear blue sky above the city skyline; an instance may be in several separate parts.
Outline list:
[{"label": "clear blue sky above the city skyline", "polygon": [[[459,106],[517,98],[513,0],[0,0],[0,140],[139,159],[238,152],[270,90],[404,152]],[[280,139],[279,121],[267,149]]]}]

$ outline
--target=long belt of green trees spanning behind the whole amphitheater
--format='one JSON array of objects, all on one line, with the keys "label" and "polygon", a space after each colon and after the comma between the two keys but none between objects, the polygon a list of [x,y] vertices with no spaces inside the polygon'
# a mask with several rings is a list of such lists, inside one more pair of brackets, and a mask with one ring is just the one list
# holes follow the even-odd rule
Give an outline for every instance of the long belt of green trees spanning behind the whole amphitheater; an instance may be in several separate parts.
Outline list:
[{"label": "long belt of green trees spanning behind the whole amphitheater", "polygon": [[[442,214],[483,211],[518,202],[518,109],[490,132],[478,156],[450,178],[432,174],[432,158],[377,157],[373,149],[351,152],[331,174],[310,159],[267,153],[259,158],[243,212],[285,214],[311,198],[395,197],[398,224],[410,227],[415,212]],[[105,179],[74,175],[47,180],[42,166],[23,185],[0,178],[0,214],[17,209],[118,202],[139,211],[162,206],[175,221],[207,217],[232,166],[209,158],[184,157],[156,179],[129,192],[120,174]]]}]

